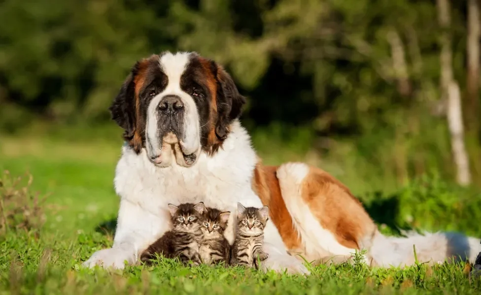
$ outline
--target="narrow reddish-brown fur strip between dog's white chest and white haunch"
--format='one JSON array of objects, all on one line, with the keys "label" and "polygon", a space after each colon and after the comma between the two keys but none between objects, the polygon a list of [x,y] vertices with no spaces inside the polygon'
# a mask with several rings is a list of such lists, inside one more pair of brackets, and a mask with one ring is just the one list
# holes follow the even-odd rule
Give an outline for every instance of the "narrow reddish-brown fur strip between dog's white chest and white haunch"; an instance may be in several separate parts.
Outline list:
[{"label": "narrow reddish-brown fur strip between dog's white chest and white haunch", "polygon": [[282,199],[277,167],[262,166],[259,161],[254,169],[252,188],[264,206],[269,207],[269,216],[279,232],[287,250],[298,249],[301,239],[293,226],[292,217]]}]

